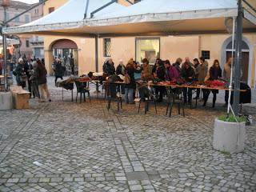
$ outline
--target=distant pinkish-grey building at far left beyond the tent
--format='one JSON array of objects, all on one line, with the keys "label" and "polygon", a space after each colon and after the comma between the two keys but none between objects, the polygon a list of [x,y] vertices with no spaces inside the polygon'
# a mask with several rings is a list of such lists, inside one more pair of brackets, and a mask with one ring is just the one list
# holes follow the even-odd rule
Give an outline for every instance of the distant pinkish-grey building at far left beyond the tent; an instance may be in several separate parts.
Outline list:
[{"label": "distant pinkish-grey building at far left beyond the tent", "polygon": [[[2,2],[3,0],[0,0],[0,5],[1,5],[0,6],[0,22],[4,20],[4,8],[2,6]],[[6,7],[6,20],[9,20],[10,18],[14,18],[16,15],[21,14],[25,10],[28,10],[30,6],[33,6],[33,5],[23,3],[23,2],[18,2],[18,1],[10,1],[10,5]],[[26,14],[23,14],[22,16],[15,18],[12,22],[8,23],[8,26],[21,26],[28,22],[32,22],[38,18],[41,18],[43,16],[42,10],[43,10],[43,5],[38,6],[33,10],[30,10]],[[28,35],[18,35],[18,38],[20,39],[20,42],[21,42],[20,46],[17,47],[19,54],[20,55],[26,54],[26,56],[34,57],[34,46],[33,44],[30,43],[33,37]],[[43,51],[43,44],[42,42],[40,43],[41,43],[41,50]]]}]

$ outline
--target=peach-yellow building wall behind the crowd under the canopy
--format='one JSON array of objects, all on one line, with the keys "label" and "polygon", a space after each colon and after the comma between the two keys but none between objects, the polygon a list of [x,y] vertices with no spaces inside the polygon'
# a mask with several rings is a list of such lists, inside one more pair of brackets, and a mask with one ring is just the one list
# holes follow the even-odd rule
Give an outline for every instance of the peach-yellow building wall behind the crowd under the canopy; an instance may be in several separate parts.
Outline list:
[{"label": "peach-yellow building wall behind the crowd under the canopy", "polygon": [[[50,10],[58,9],[65,2],[67,0],[50,0],[46,2],[44,13],[50,13]],[[130,5],[125,0],[118,2],[125,6]],[[252,4],[256,7],[256,2],[252,1]],[[243,34],[242,80],[252,87],[256,86],[255,45],[256,33]],[[95,71],[94,47],[94,38],[47,36],[45,37],[44,45],[47,70],[51,73],[51,63],[54,57],[65,57],[73,53],[79,74]],[[190,57],[190,60],[193,60],[201,56],[205,57],[210,64],[213,63],[214,59],[218,59],[223,68],[226,60],[231,57],[232,46],[230,34],[200,34],[190,36],[100,38],[98,49],[100,70],[102,70],[102,64],[106,58],[113,58],[115,66],[117,66],[120,59],[128,61],[130,58],[134,58],[136,61],[141,62],[142,58],[148,58],[151,63],[154,63],[155,58],[169,59],[171,62],[175,62],[176,58]]]}]

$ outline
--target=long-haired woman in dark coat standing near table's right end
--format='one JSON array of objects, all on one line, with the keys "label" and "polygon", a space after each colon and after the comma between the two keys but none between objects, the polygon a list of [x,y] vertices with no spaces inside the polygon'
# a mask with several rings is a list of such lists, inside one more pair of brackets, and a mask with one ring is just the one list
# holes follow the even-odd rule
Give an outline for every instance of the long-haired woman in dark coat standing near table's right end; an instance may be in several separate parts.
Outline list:
[{"label": "long-haired woman in dark coat standing near table's right end", "polygon": [[[210,81],[214,81],[214,80],[218,80],[219,78],[222,78],[222,69],[219,66],[219,62],[217,59],[214,60],[214,65],[210,67],[209,73],[210,73],[210,78],[208,80]],[[214,94],[213,106],[212,106],[214,108],[218,90],[212,90],[211,92]],[[210,95],[210,90],[205,90],[203,106],[206,106],[206,102],[208,101],[209,95]]]}]

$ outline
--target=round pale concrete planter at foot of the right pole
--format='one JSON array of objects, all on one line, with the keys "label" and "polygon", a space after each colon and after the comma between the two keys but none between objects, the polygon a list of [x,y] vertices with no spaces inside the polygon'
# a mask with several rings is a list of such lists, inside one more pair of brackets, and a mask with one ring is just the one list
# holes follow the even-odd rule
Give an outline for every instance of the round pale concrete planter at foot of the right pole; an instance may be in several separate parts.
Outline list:
[{"label": "round pale concrete planter at foot of the right pole", "polygon": [[223,122],[215,118],[214,149],[239,153],[245,149],[246,122]]}]

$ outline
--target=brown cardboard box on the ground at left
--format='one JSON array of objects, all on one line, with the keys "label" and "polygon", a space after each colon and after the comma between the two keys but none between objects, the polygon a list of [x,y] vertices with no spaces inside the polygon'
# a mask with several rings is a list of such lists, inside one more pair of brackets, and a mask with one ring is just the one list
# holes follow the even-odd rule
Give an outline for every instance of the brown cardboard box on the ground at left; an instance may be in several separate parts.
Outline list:
[{"label": "brown cardboard box on the ground at left", "polygon": [[23,90],[22,86],[10,86],[14,109],[24,110],[30,108],[30,92]]}]

